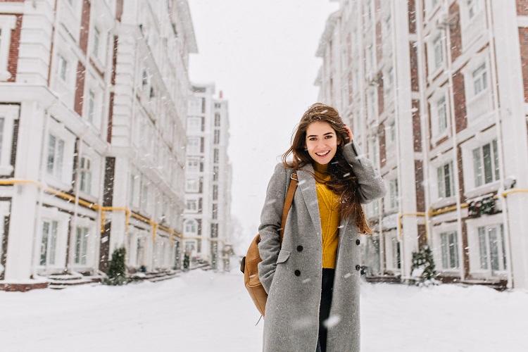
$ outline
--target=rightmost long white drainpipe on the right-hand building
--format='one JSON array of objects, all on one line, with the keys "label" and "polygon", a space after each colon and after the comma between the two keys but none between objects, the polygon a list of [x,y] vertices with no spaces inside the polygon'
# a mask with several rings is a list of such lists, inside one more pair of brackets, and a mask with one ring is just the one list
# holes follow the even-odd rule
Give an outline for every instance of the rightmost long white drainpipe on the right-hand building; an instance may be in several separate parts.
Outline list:
[{"label": "rightmost long white drainpipe on the right-hand building", "polygon": [[502,234],[504,236],[504,246],[505,248],[505,254],[506,254],[506,274],[508,276],[508,283],[506,284],[506,287],[508,289],[511,289],[513,287],[513,270],[512,270],[512,259],[511,259],[511,234],[510,234],[510,220],[508,218],[508,202],[506,201],[506,197],[503,195],[504,191],[504,156],[503,156],[503,129],[502,129],[502,122],[501,122],[501,106],[500,102],[498,101],[498,89],[497,89],[497,65],[496,65],[496,57],[495,57],[495,38],[494,38],[494,23],[493,19],[491,17],[491,1],[486,0],[486,20],[487,20],[487,27],[488,27],[488,41],[489,41],[489,61],[490,61],[490,70],[491,73],[491,92],[493,96],[493,103],[494,103],[494,111],[496,111],[495,115],[495,124],[497,126],[497,149],[498,149],[498,165],[499,165],[499,180],[501,180],[501,186],[498,189],[499,199],[501,199],[501,208],[502,208],[502,218],[503,218],[503,224],[504,224],[504,233]]}]

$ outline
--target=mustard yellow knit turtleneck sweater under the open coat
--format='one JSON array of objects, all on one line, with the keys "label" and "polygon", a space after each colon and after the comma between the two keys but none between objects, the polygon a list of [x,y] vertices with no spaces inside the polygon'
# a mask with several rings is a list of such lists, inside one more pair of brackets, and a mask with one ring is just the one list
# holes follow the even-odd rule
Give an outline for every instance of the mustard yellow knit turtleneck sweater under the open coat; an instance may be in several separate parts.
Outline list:
[{"label": "mustard yellow knit turtleneck sweater under the open coat", "polygon": [[[327,173],[328,164],[313,165],[315,175],[322,180],[330,180]],[[339,244],[339,196],[328,189],[325,184],[315,182],[315,189],[318,194],[319,214],[321,217],[322,230],[322,268],[336,268],[337,245]]]}]

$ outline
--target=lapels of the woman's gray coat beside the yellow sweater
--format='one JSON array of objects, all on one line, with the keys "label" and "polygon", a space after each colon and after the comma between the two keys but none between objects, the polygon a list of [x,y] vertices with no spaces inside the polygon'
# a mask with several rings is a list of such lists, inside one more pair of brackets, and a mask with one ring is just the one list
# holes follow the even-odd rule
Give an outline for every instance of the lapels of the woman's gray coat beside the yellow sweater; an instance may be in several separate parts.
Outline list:
[{"label": "lapels of the woman's gray coat beside the yellow sweater", "polygon": [[[321,216],[319,213],[318,195],[315,189],[315,178],[310,172],[314,172],[313,165],[310,163],[304,165],[302,168],[299,168],[297,170],[297,187],[301,189],[301,193],[303,194],[304,198],[304,203],[306,203],[306,207],[308,208],[308,213],[310,213],[310,218],[312,218],[313,225],[315,226],[315,229],[318,230],[319,241],[321,241],[322,227]],[[347,224],[348,218],[346,220],[340,221],[340,234],[344,231]]]}]

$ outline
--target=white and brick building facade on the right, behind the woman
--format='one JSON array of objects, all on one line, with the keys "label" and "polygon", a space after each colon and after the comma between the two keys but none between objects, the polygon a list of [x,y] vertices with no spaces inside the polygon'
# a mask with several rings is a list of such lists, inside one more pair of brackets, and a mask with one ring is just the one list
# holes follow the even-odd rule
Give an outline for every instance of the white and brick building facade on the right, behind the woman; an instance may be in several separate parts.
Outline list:
[{"label": "white and brick building facade on the right, behind the woman", "polygon": [[317,56],[386,182],[366,206],[372,280],[411,277],[426,244],[445,282],[528,287],[527,1],[341,0]]}]

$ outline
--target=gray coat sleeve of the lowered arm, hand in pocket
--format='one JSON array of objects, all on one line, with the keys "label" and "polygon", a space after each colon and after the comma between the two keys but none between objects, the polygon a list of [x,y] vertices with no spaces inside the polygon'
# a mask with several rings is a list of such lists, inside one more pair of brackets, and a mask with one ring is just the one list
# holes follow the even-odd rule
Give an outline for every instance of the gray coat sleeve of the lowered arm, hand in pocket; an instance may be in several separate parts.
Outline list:
[{"label": "gray coat sleeve of the lowered arm, hand in pocket", "polygon": [[258,278],[266,293],[270,291],[281,246],[280,222],[282,220],[282,208],[284,207],[286,193],[286,177],[284,165],[281,163],[277,164],[268,184],[265,203],[262,213],[260,213],[258,252],[262,261],[258,263]]}]

